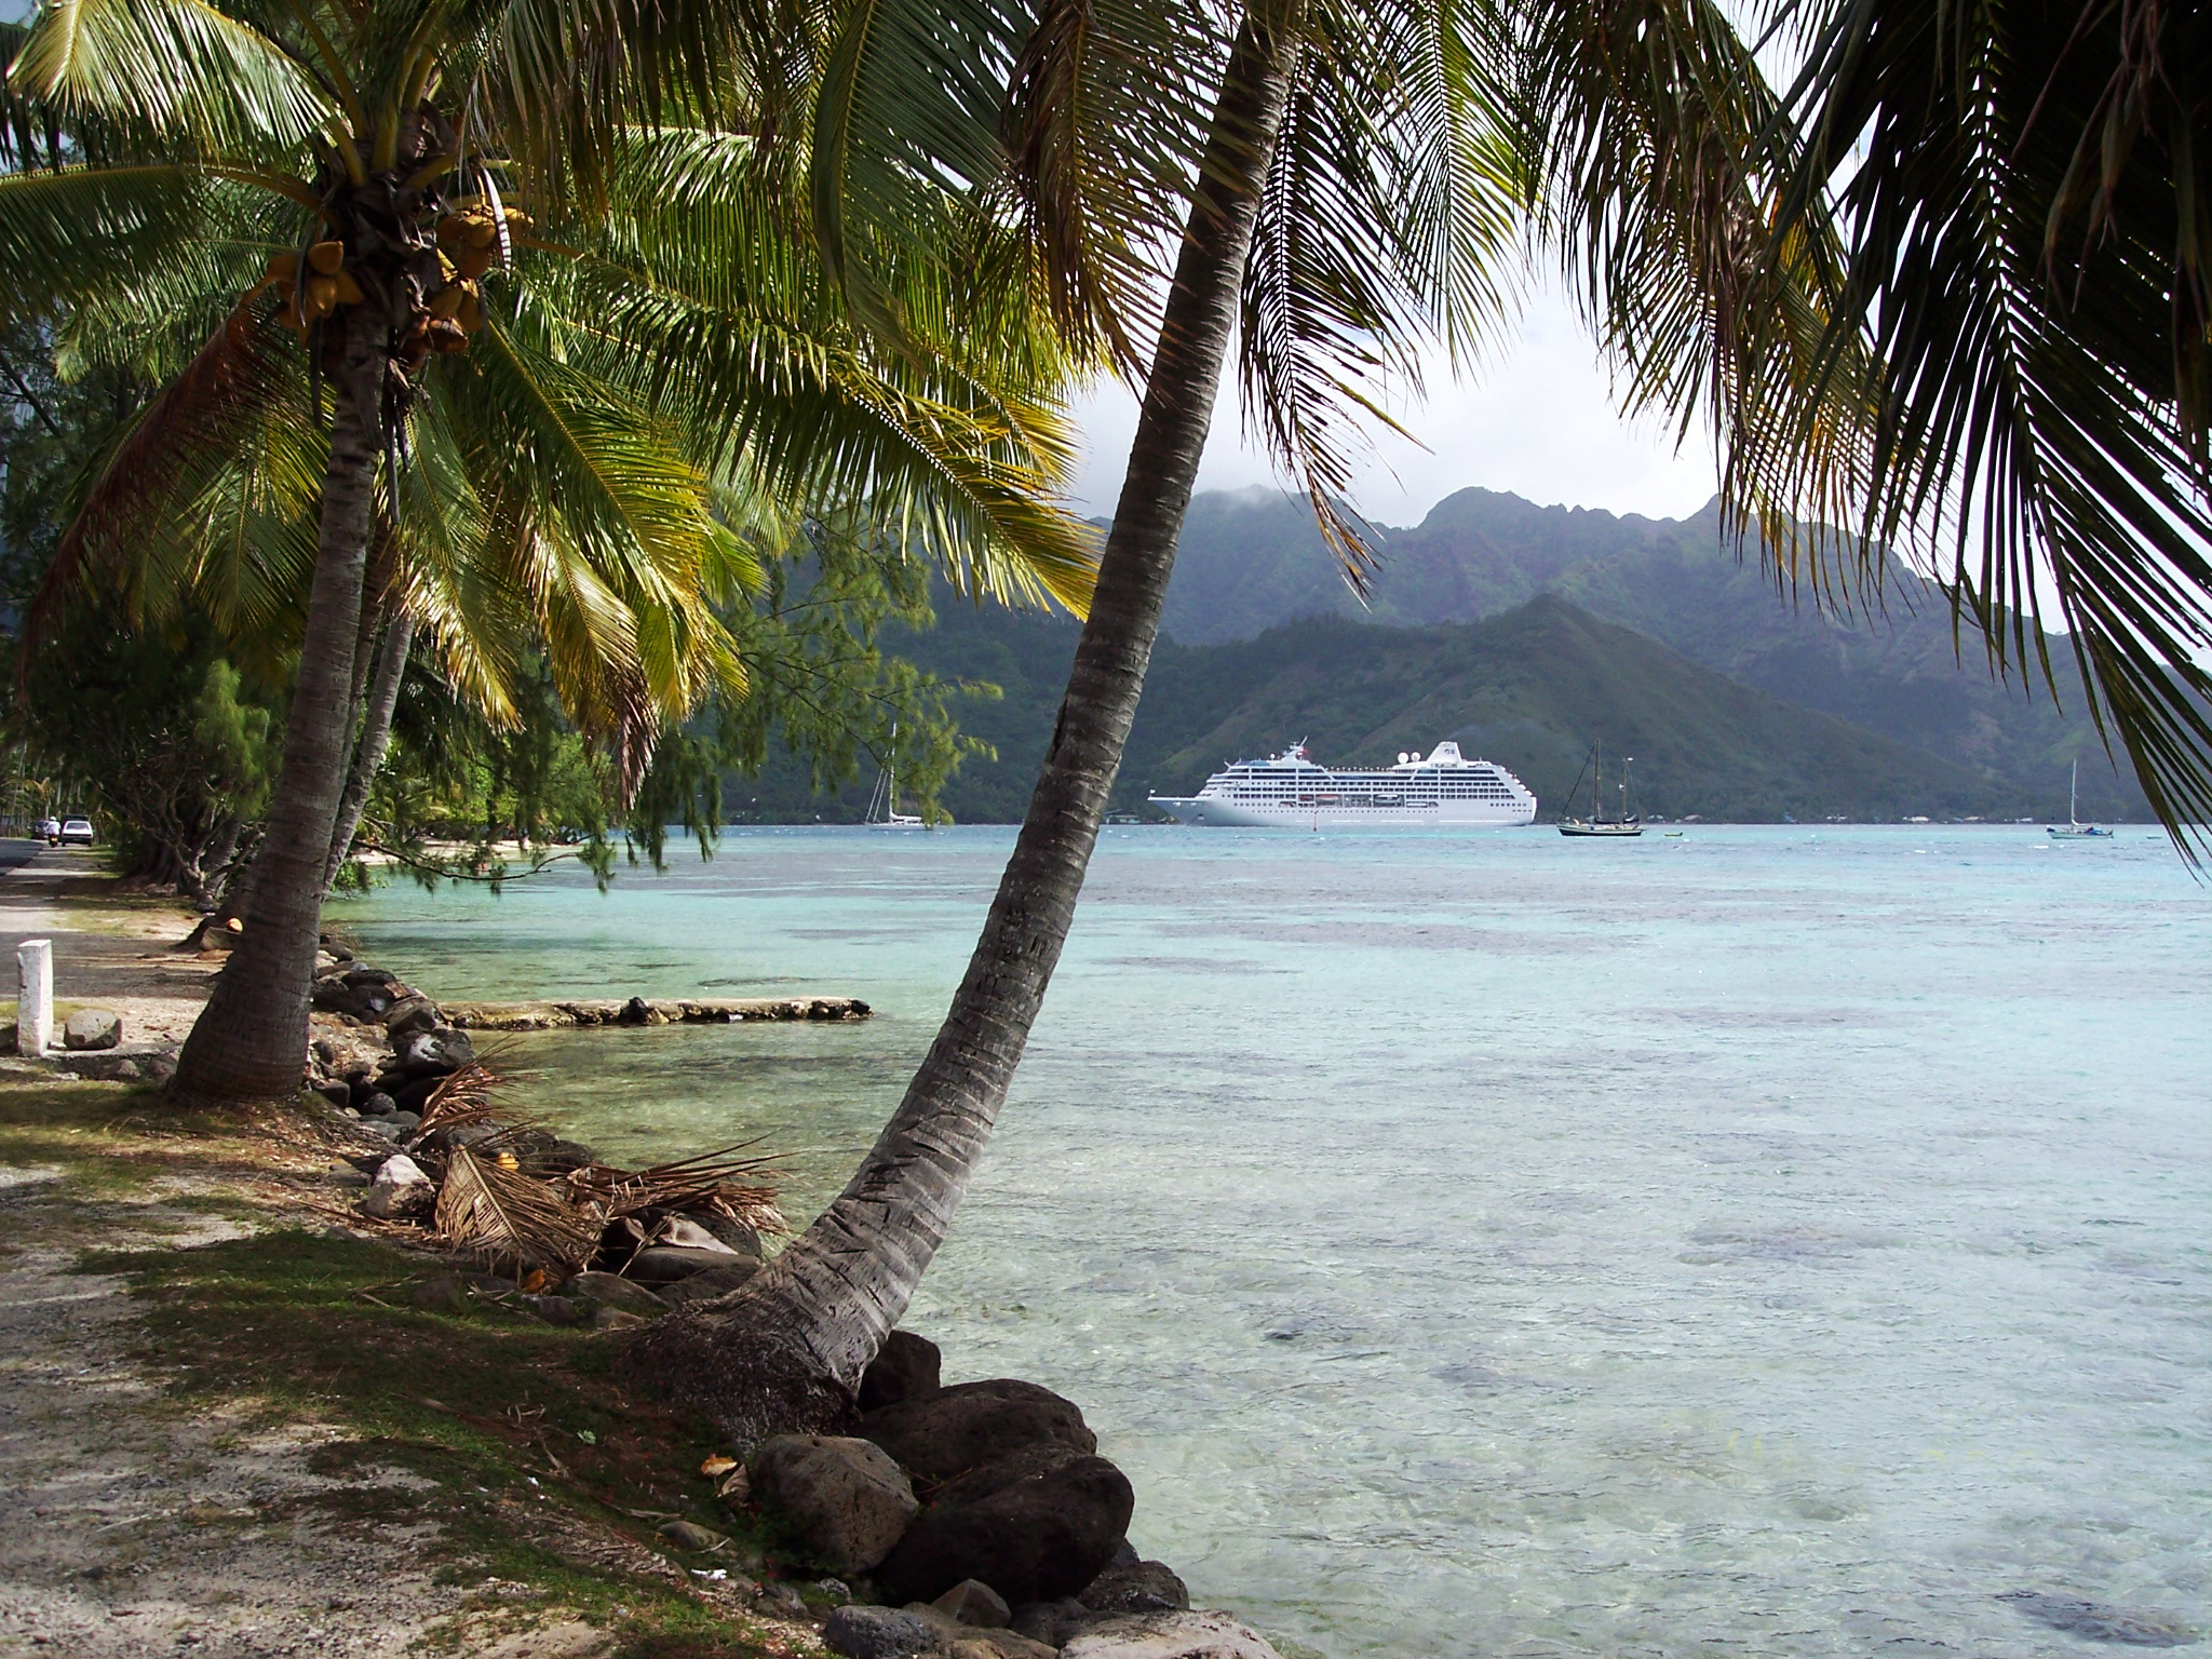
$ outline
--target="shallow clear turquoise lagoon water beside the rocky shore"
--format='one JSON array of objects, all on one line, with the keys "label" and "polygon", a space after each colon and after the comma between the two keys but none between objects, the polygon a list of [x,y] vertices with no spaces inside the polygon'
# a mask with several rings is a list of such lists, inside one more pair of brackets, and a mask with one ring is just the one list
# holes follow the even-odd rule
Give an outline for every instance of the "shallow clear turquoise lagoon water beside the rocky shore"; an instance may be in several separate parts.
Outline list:
[{"label": "shallow clear turquoise lagoon water beside the rocky shore", "polygon": [[[2212,889],[2044,843],[1108,830],[909,1325],[1079,1400],[1146,1555],[1332,1659],[2212,1641]],[[507,1051],[602,1152],[794,1148],[805,1217],[1009,847],[345,909],[449,998],[865,995]]]}]

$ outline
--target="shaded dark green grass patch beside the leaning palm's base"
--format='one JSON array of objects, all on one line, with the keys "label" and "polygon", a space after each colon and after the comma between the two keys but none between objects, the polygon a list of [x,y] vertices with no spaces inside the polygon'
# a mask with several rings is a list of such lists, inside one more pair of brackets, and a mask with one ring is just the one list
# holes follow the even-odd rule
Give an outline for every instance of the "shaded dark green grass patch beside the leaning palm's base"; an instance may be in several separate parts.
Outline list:
[{"label": "shaded dark green grass patch beside the leaning palm's base", "polygon": [[[469,1619],[491,1608],[564,1608],[611,1628],[624,1659],[790,1652],[779,1632],[692,1593],[690,1568],[761,1575],[774,1540],[697,1473],[723,1449],[712,1431],[633,1396],[606,1338],[495,1305],[420,1312],[409,1292],[431,1265],[307,1230],[88,1252],[84,1267],[131,1281],[148,1358],[170,1369],[181,1400],[345,1429],[314,1453],[341,1484],[310,1509],[338,1528],[436,1522],[445,1582],[498,1582],[462,1615],[469,1639],[482,1632]],[[411,1480],[394,1484],[392,1471]],[[681,1553],[657,1535],[664,1520],[732,1542]]]}]

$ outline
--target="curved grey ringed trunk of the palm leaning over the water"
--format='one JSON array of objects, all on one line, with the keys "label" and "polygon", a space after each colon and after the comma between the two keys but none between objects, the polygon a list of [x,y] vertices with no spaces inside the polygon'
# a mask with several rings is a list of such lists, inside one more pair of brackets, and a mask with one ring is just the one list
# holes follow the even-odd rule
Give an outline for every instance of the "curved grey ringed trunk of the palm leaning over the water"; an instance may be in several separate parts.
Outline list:
[{"label": "curved grey ringed trunk of the palm leaning over the water", "polygon": [[1239,27],[1060,723],[929,1057],[858,1175],[772,1267],[712,1314],[661,1321],[633,1352],[741,1440],[852,1413],[863,1367],[951,1225],[1044,1002],[1137,714],[1237,330],[1296,55],[1283,11],[1250,4]]}]

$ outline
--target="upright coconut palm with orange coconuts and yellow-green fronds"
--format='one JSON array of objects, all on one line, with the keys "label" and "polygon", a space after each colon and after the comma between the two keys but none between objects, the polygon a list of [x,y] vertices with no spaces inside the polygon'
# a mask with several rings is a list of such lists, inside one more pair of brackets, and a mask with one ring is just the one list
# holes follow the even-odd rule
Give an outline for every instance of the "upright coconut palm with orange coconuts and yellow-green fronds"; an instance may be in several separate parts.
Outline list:
[{"label": "upright coconut palm with orange coconuts and yellow-green fronds", "polygon": [[[108,296],[128,310],[153,296],[175,314],[246,290],[113,453],[77,551],[97,555],[142,509],[175,511],[179,500],[237,507],[239,524],[274,526],[283,542],[299,522],[265,511],[270,473],[234,460],[254,438],[285,447],[274,427],[301,372],[305,407],[321,418],[327,403],[312,553],[296,549],[312,582],[281,781],[241,945],[179,1062],[184,1095],[285,1097],[299,1086],[378,602],[396,619],[442,599],[451,622],[473,619],[487,584],[568,595],[566,606],[540,602],[533,622],[571,679],[571,706],[604,714],[602,734],[633,781],[657,719],[688,706],[703,666],[730,666],[706,599],[741,557],[710,509],[750,500],[790,513],[825,487],[883,495],[902,502],[907,529],[945,533],[945,551],[971,573],[1031,560],[1022,580],[1082,602],[1082,538],[1042,489],[1051,422],[1033,396],[993,396],[978,352],[927,352],[931,327],[949,338],[942,323],[962,312],[962,283],[922,292],[894,276],[891,292],[914,303],[891,358],[849,334],[805,332],[836,299],[821,283],[796,312],[776,305],[810,290],[801,237],[723,239],[701,254],[670,234],[666,204],[611,221],[626,179],[633,201],[641,181],[681,197],[717,168],[754,186],[743,204],[765,204],[723,228],[759,230],[787,204],[765,146],[646,119],[684,117],[686,97],[728,102],[726,82],[701,69],[732,60],[728,42],[692,20],[633,49],[637,31],[617,24],[582,0],[301,0],[237,15],[197,0],[73,0],[44,7],[22,35],[9,124],[62,124],[75,150],[0,179],[11,248],[0,303],[29,312]],[[522,281],[518,254],[549,270]],[[511,292],[502,272],[513,272]],[[686,281],[699,276],[708,292]],[[732,312],[743,321],[734,338],[641,367],[686,338],[703,343]],[[982,352],[1004,338],[993,323],[1009,314],[1020,307],[967,307]],[[1026,389],[1062,365],[1035,354],[1044,378]],[[597,400],[608,387],[628,394],[613,411]],[[438,471],[440,422],[460,429],[445,436],[462,462],[507,460],[502,482],[476,493],[482,522],[465,538],[493,557],[442,593],[420,560],[398,593],[389,582],[372,593],[380,526],[405,533],[414,553],[451,540],[445,500],[427,520],[407,511]],[[622,653],[597,646],[608,628]],[[442,639],[465,670],[495,666],[498,653],[476,650],[467,628]],[[482,679],[495,703],[493,681]]]}]

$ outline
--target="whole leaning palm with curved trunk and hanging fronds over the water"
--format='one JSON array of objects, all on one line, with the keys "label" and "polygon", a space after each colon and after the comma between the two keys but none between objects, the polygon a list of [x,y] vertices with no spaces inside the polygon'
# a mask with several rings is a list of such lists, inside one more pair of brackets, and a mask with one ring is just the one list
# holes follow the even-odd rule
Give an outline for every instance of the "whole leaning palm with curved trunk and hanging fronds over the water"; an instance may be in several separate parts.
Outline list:
[{"label": "whole leaning palm with curved trunk and hanging fronds over the water", "polygon": [[[1029,228],[1062,325],[1141,369],[1144,400],[1029,816],[929,1055],[843,1194],[770,1270],[639,1343],[646,1369],[732,1431],[845,1416],[951,1223],[1075,911],[1232,338],[1248,416],[1354,582],[1367,549],[1340,493],[1360,420],[1416,380],[1425,345],[1467,354],[1498,323],[1524,230],[1586,257],[1597,301],[1613,272],[1644,285],[1601,323],[1641,396],[1674,414],[1703,407],[1721,434],[1754,434],[1765,376],[1809,361],[1818,268],[1761,263],[1763,239],[1745,234],[1792,159],[1774,100],[1717,13],[1650,11],[1635,62],[1577,84],[1604,164],[1553,219],[1531,219],[1531,192],[1573,157],[1531,142],[1526,108],[1544,93],[1522,71],[1542,20],[1506,7],[1068,0],[1009,15],[878,0],[849,13],[823,73],[814,188],[856,310],[887,307],[849,228],[916,221],[916,181],[951,173]],[[896,314],[880,325],[896,334]],[[1745,451],[1732,500],[1774,518],[1790,489],[1836,489],[1851,465],[1854,427],[1836,420],[1809,460]]]}]

